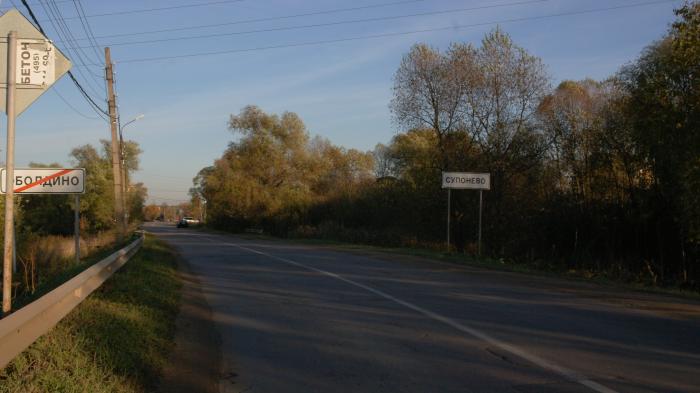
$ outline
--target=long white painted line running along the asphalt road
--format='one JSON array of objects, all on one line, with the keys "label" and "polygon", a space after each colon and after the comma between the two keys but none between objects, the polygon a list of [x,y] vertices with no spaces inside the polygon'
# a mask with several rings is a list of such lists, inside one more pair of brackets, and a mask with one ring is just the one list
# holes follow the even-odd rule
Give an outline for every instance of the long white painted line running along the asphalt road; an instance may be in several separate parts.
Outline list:
[{"label": "long white painted line running along the asphalt road", "polygon": [[328,277],[335,278],[336,280],[339,280],[339,281],[342,281],[342,282],[344,282],[344,283],[350,284],[350,285],[355,286],[355,287],[357,287],[357,288],[364,289],[364,290],[367,291],[367,292],[370,292],[370,293],[373,293],[373,294],[375,294],[375,295],[381,296],[381,297],[383,297],[383,298],[385,298],[385,299],[387,299],[387,300],[391,300],[392,302],[394,302],[394,303],[396,303],[396,304],[402,305],[402,306],[404,306],[404,307],[406,307],[406,308],[408,308],[408,309],[411,309],[411,310],[416,311],[416,312],[418,312],[418,313],[420,313],[420,314],[423,314],[424,316],[426,316],[426,317],[428,317],[428,318],[430,318],[430,319],[433,319],[433,320],[438,321],[438,322],[442,322],[443,324],[448,325],[448,326],[451,326],[451,327],[453,327],[453,328],[459,330],[459,331],[462,332],[462,333],[466,333],[466,334],[468,334],[468,335],[470,335],[470,336],[476,337],[476,338],[478,338],[478,339],[480,339],[480,340],[482,340],[482,341],[484,341],[484,342],[486,342],[486,343],[488,343],[488,344],[490,344],[490,345],[492,345],[492,346],[495,346],[495,347],[497,347],[497,348],[500,348],[500,349],[503,350],[503,351],[509,352],[509,353],[511,353],[511,354],[513,354],[513,355],[515,355],[515,356],[518,356],[518,357],[520,357],[520,358],[522,358],[522,359],[525,359],[525,360],[529,361],[530,363],[533,363],[533,364],[535,364],[535,365],[537,365],[537,366],[539,366],[539,367],[541,367],[541,368],[543,368],[543,369],[546,369],[546,370],[552,371],[552,372],[554,372],[554,373],[556,373],[556,374],[559,374],[559,375],[563,376],[564,378],[566,378],[566,379],[568,379],[568,380],[570,380],[570,381],[576,382],[576,383],[578,383],[578,384],[580,384],[580,385],[583,385],[583,386],[585,386],[585,387],[587,387],[587,388],[589,388],[589,389],[591,389],[591,390],[593,390],[593,391],[595,391],[595,392],[599,392],[599,393],[617,393],[615,390],[610,389],[610,388],[608,388],[607,386],[603,386],[603,385],[599,384],[598,382],[595,382],[595,381],[593,381],[592,379],[590,379],[590,378],[588,378],[588,377],[586,377],[586,376],[584,376],[584,375],[581,375],[581,374],[579,374],[579,373],[577,373],[577,372],[575,372],[575,371],[573,371],[573,370],[570,370],[570,369],[568,369],[568,368],[566,368],[566,367],[563,367],[563,366],[554,364],[554,363],[552,363],[552,362],[550,362],[550,361],[548,361],[548,360],[545,360],[545,359],[543,359],[543,358],[541,358],[541,357],[539,357],[539,356],[537,356],[537,355],[531,354],[531,353],[529,353],[529,352],[527,352],[527,351],[525,351],[525,350],[523,350],[523,349],[521,349],[521,348],[518,348],[518,347],[516,347],[516,346],[514,346],[514,345],[505,343],[505,342],[503,342],[503,341],[500,341],[500,340],[498,340],[498,339],[496,339],[496,338],[494,338],[494,337],[491,337],[491,336],[489,336],[488,334],[486,334],[486,333],[484,333],[484,332],[482,332],[482,331],[480,331],[480,330],[477,330],[477,329],[474,329],[474,328],[472,328],[472,327],[463,325],[463,324],[461,324],[461,323],[459,323],[459,322],[457,322],[457,321],[455,321],[455,320],[453,320],[453,319],[450,319],[450,318],[448,318],[448,317],[446,317],[446,316],[444,316],[444,315],[440,315],[440,314],[437,314],[437,313],[432,312],[432,311],[430,311],[430,310],[427,310],[427,309],[425,309],[425,308],[422,308],[422,307],[420,307],[420,306],[416,306],[416,305],[413,304],[413,303],[409,303],[409,302],[407,302],[407,301],[405,301],[405,300],[401,300],[401,299],[399,299],[399,298],[397,298],[397,297],[394,297],[394,296],[392,296],[392,295],[390,295],[390,294],[388,294],[388,293],[386,293],[386,292],[384,292],[384,291],[381,291],[381,290],[379,290],[379,289],[372,288],[372,287],[370,287],[370,286],[361,284],[361,283],[359,283],[359,282],[357,282],[357,281],[353,281],[353,280],[350,280],[350,279],[348,279],[348,278],[345,278],[345,277],[343,277],[343,276],[341,276],[341,275],[339,275],[339,274],[331,273],[331,272],[329,272],[329,271],[325,271],[325,270],[321,270],[321,269],[317,269],[317,268],[315,268],[315,267],[313,267],[313,266],[308,266],[308,265],[305,265],[305,264],[303,264],[303,263],[299,263],[299,262],[293,261],[293,260],[291,260],[291,259],[278,257],[278,256],[275,256],[275,255],[271,255],[271,254],[262,252],[262,251],[254,250],[254,249],[252,249],[252,248],[244,247],[244,246],[241,246],[241,245],[235,244],[235,243],[224,243],[224,244],[227,244],[227,245],[230,245],[230,246],[233,246],[233,247],[237,247],[237,248],[240,248],[240,249],[242,249],[242,250],[245,250],[245,251],[248,251],[248,252],[252,252],[252,253],[254,253],[254,254],[263,255],[263,256],[266,256],[266,257],[268,257],[268,258],[271,258],[271,259],[274,259],[274,260],[277,260],[277,261],[280,261],[280,262],[284,262],[284,263],[289,264],[289,265],[293,265],[293,266],[296,266],[296,267],[300,267],[300,268],[302,268],[302,269],[311,270],[311,271],[314,271],[314,272],[316,272],[316,273],[320,273],[320,274],[325,275],[325,276],[328,276]]}]

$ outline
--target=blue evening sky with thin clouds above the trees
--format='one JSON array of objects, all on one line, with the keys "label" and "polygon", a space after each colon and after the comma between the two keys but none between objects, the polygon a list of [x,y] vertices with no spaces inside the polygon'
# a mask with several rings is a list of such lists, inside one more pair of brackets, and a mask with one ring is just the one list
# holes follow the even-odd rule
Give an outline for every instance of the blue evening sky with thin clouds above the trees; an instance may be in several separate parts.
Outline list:
[{"label": "blue evening sky with thin clouds above the trees", "polygon": [[[0,8],[4,12],[13,3],[28,15],[20,0],[2,0]],[[441,49],[456,41],[478,45],[500,24],[518,45],[542,58],[553,85],[604,79],[659,39],[681,4],[29,0],[48,36],[73,61],[76,78],[103,108],[102,48],[111,47],[122,124],[145,114],[124,128],[125,138],[144,151],[134,180],[144,182],[149,200],[158,203],[188,199],[192,178],[234,138],[226,127],[229,115],[246,105],[296,112],[312,135],[370,150],[401,131],[391,122],[388,104],[393,74],[414,43]],[[585,12],[593,10],[598,11]],[[86,18],[77,18],[79,12]],[[86,28],[94,40],[84,39]],[[75,41],[66,42],[67,31]],[[17,120],[18,166],[32,161],[69,166],[73,147],[109,138],[108,123],[69,78],[52,90]],[[4,161],[4,116],[1,123]]]}]

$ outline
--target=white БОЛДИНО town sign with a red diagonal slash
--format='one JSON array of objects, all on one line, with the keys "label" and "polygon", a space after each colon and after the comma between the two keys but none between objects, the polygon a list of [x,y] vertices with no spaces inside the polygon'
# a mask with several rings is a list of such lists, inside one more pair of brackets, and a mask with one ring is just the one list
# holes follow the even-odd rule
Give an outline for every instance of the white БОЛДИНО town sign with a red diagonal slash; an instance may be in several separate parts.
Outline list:
[{"label": "white \u0411\u041e\u041b\u0414\u0418\u041d\u041e town sign with a red diagonal slash", "polygon": [[[0,169],[0,193],[7,192],[5,168]],[[12,180],[16,194],[83,194],[85,169],[82,168],[15,168]]]}]

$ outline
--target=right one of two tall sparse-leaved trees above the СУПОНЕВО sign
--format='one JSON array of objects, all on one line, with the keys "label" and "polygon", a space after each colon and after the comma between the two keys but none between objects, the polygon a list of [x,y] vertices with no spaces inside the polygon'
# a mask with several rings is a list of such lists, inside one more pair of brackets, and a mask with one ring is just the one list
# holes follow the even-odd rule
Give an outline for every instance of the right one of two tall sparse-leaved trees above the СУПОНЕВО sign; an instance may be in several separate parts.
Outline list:
[{"label": "right one of two tall sparse-leaved trees above the \u0421\u0423\u041f\u041e\u041d\u0415\u0412\u041e sign", "polygon": [[475,55],[479,77],[460,107],[467,130],[480,145],[496,180],[504,171],[536,165],[544,152],[537,140],[535,114],[548,92],[542,61],[500,28],[487,34]]}]

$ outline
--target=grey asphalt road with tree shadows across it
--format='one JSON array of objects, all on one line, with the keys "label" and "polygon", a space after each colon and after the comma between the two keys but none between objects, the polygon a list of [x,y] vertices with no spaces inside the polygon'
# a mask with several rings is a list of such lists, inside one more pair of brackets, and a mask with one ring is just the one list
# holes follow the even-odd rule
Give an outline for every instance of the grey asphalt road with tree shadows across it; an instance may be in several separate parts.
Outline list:
[{"label": "grey asphalt road with tree shadows across it", "polygon": [[698,302],[147,230],[199,277],[221,335],[221,392],[700,392]]}]

